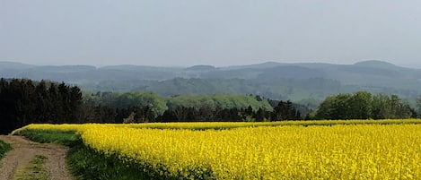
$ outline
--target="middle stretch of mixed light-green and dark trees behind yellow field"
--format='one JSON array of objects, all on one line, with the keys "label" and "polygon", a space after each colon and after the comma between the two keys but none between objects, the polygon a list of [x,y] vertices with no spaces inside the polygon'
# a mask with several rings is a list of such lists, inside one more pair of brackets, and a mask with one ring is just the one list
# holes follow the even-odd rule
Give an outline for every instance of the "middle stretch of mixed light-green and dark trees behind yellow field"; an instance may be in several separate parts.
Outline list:
[{"label": "middle stretch of mixed light-green and dark trees behind yellow field", "polygon": [[91,115],[95,116],[91,119],[100,123],[240,122],[303,118],[291,101],[274,101],[252,95],[180,95],[162,98],[153,92],[96,92],[84,98],[93,109]]}]

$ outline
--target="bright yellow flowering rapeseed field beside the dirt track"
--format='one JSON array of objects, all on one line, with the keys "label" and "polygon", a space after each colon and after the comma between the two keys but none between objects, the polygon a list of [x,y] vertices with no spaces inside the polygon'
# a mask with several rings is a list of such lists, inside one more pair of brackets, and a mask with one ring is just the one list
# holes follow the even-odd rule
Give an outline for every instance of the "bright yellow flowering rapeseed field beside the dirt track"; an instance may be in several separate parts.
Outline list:
[{"label": "bright yellow flowering rapeseed field beside the dirt track", "polygon": [[14,133],[80,141],[76,173],[114,170],[103,179],[419,179],[420,123],[31,124]]}]

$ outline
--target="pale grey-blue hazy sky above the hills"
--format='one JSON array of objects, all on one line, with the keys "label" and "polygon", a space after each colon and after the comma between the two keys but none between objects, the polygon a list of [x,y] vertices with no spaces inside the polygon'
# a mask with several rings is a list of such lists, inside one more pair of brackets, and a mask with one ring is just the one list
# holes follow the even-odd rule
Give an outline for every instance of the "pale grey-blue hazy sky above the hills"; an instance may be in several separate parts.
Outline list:
[{"label": "pale grey-blue hazy sky above the hills", "polygon": [[0,61],[421,64],[419,0],[0,0]]}]

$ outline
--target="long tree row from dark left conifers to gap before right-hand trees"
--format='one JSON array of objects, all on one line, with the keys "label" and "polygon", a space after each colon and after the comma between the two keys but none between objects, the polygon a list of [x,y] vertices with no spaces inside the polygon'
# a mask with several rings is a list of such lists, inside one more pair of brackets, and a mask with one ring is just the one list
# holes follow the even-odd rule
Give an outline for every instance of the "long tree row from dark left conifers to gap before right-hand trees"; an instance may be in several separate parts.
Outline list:
[{"label": "long tree row from dark left conifers to gap before right-hand trees", "polygon": [[[229,105],[229,106],[227,106]],[[288,110],[284,108],[290,108]],[[0,79],[0,133],[27,124],[277,121],[301,119],[290,101],[275,108],[259,96],[177,96],[153,92],[97,93],[83,98],[65,82]]]}]

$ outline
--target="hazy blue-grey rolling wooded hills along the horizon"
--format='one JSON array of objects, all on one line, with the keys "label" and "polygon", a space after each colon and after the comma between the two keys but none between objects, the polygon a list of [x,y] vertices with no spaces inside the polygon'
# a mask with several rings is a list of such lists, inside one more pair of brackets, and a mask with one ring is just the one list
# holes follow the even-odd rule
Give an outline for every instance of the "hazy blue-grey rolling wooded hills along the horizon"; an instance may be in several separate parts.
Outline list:
[{"label": "hazy blue-grey rolling wooded hills along the horizon", "polygon": [[270,99],[324,99],[341,92],[368,90],[403,98],[421,93],[421,70],[382,61],[356,64],[281,64],[153,67],[114,65],[39,66],[0,62],[0,77],[65,81],[83,90],[152,90],[180,94],[255,94]]}]

